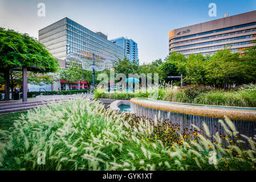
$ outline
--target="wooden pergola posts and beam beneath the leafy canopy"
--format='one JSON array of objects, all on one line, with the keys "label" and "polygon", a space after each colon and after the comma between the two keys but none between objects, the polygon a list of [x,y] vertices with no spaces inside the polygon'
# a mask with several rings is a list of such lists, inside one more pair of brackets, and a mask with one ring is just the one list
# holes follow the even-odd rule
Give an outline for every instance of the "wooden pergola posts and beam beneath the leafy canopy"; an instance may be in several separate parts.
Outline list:
[{"label": "wooden pergola posts and beam beneath the leafy canopy", "polygon": [[[11,68],[9,71],[22,71],[22,102],[27,102],[27,72],[48,72],[47,69],[38,68],[36,66],[31,67],[17,67]],[[5,100],[10,100],[10,73],[9,71],[5,72]]]}]

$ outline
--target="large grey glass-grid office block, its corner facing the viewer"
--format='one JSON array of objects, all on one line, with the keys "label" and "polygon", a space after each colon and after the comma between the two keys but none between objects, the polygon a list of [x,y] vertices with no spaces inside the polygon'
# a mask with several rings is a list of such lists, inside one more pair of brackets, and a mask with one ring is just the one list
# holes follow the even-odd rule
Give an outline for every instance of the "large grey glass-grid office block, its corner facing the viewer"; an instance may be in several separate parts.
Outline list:
[{"label": "large grey glass-grid office block, its corner facing the viewer", "polygon": [[107,35],[88,30],[69,18],[42,28],[38,37],[52,56],[60,60],[66,59],[68,53],[80,51],[106,55],[112,61],[124,58],[124,48],[107,40]]}]

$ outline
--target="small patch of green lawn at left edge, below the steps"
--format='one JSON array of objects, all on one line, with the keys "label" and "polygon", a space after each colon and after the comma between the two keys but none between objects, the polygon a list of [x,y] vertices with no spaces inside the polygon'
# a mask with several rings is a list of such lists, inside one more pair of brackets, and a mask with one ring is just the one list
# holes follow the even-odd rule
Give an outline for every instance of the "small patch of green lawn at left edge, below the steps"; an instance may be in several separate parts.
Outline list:
[{"label": "small patch of green lawn at left edge, below the steps", "polygon": [[27,114],[27,110],[0,114],[0,130],[9,130],[9,128],[13,126],[13,122],[18,119],[21,114]]}]

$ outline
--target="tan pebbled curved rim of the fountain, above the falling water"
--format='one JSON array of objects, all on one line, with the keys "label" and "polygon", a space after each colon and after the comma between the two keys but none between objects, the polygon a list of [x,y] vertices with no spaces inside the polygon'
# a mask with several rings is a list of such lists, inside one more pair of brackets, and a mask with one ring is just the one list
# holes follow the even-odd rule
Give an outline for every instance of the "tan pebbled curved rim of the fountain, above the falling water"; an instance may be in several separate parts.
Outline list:
[{"label": "tan pebbled curved rim of the fountain, above the falling water", "polygon": [[[256,121],[256,107],[230,107],[200,104],[184,104],[179,102],[168,102],[152,100],[149,98],[132,98],[132,105],[147,107],[172,113],[198,115],[201,117],[220,118],[225,116],[229,119],[239,121]],[[136,110],[133,110],[136,113]]]}]

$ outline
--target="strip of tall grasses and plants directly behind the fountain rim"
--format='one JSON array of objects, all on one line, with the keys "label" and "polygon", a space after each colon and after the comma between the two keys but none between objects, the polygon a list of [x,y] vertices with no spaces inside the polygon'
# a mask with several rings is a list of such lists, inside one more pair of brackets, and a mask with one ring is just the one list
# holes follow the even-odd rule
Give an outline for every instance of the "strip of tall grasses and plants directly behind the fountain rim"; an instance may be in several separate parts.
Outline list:
[{"label": "strip of tall grasses and plants directly behind the fountain rim", "polygon": [[[158,93],[157,93],[158,92]],[[190,85],[178,88],[141,89],[138,92],[108,93],[96,90],[95,98],[130,100],[134,97],[146,97],[156,100],[182,102],[189,104],[256,107],[256,85],[249,84],[239,88],[224,90],[206,86]]]}]

